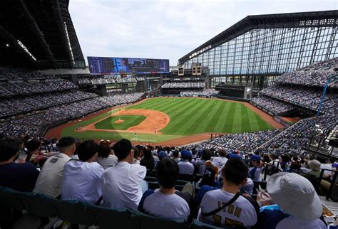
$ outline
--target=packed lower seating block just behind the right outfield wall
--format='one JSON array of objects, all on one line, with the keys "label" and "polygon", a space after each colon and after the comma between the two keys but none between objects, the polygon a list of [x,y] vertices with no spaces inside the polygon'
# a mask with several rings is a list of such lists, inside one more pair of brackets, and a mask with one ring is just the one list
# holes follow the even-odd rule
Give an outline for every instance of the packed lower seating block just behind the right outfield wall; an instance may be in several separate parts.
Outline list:
[{"label": "packed lower seating block just behind the right outfield wall", "polygon": [[256,105],[260,105],[261,107],[264,107],[265,109],[274,112],[277,115],[285,112],[291,112],[292,110],[296,109],[295,105],[291,105],[290,103],[276,100],[272,97],[267,97],[265,95],[257,96],[251,101],[254,102]]}]

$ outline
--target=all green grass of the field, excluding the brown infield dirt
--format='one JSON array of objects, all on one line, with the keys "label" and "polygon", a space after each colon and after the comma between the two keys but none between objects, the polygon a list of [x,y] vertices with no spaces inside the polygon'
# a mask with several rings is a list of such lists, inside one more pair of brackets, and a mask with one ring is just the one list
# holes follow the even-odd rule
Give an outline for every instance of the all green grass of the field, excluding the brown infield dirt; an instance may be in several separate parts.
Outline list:
[{"label": "all green grass of the field, excluding the brown infield dirt", "polygon": [[[265,122],[259,115],[252,112],[239,102],[230,102],[226,100],[205,100],[201,98],[153,98],[130,105],[125,109],[149,109],[164,112],[170,117],[170,123],[160,132],[163,134],[135,134],[116,133],[116,132],[74,132],[76,127],[86,126],[99,119],[95,126],[98,129],[128,129],[143,121],[144,116],[123,115],[117,117],[108,117],[112,110],[102,115],[98,115],[87,121],[78,122],[71,127],[63,129],[63,136],[73,136],[89,139],[114,139],[128,138],[139,142],[163,142],[178,137],[184,137],[192,134],[210,133],[242,133],[256,132],[261,130],[274,129]],[[128,117],[126,117],[128,116]],[[135,117],[134,117],[135,116]],[[115,124],[119,118],[125,122]]]}]

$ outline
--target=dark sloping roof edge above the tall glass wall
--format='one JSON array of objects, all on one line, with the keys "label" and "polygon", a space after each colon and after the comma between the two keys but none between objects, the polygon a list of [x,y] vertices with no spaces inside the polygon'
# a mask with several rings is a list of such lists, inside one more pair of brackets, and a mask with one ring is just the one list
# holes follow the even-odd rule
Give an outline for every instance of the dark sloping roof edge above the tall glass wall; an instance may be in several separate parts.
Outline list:
[{"label": "dark sloping roof edge above the tall glass wall", "polygon": [[198,46],[198,48],[195,48],[187,55],[184,55],[183,58],[178,60],[178,65],[182,65],[190,58],[200,55],[201,53],[210,50],[210,48],[215,48],[226,41],[230,41],[232,38],[240,36],[247,31],[251,31],[252,29],[322,27],[337,26],[337,24],[337,10],[247,16],[214,38],[211,38],[209,41],[203,43],[201,46]]}]

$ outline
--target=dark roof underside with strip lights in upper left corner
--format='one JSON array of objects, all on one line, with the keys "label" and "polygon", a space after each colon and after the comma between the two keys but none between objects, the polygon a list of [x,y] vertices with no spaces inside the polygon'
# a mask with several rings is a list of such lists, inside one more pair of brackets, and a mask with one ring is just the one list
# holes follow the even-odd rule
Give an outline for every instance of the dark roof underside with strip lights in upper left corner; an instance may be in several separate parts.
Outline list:
[{"label": "dark roof underside with strip lights in upper left corner", "polygon": [[85,68],[68,4],[69,0],[1,1],[0,64]]}]

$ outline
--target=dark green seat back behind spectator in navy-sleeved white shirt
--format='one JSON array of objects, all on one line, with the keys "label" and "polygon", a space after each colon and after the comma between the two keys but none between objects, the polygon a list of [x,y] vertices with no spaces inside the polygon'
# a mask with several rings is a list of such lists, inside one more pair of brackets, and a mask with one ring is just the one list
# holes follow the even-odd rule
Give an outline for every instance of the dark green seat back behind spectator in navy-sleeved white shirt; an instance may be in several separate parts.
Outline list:
[{"label": "dark green seat back behind spectator in navy-sleeved white shirt", "polygon": [[188,228],[183,218],[155,218],[150,215],[145,215],[139,211],[133,212],[133,220],[138,222],[140,229],[175,229],[175,228]]}]

